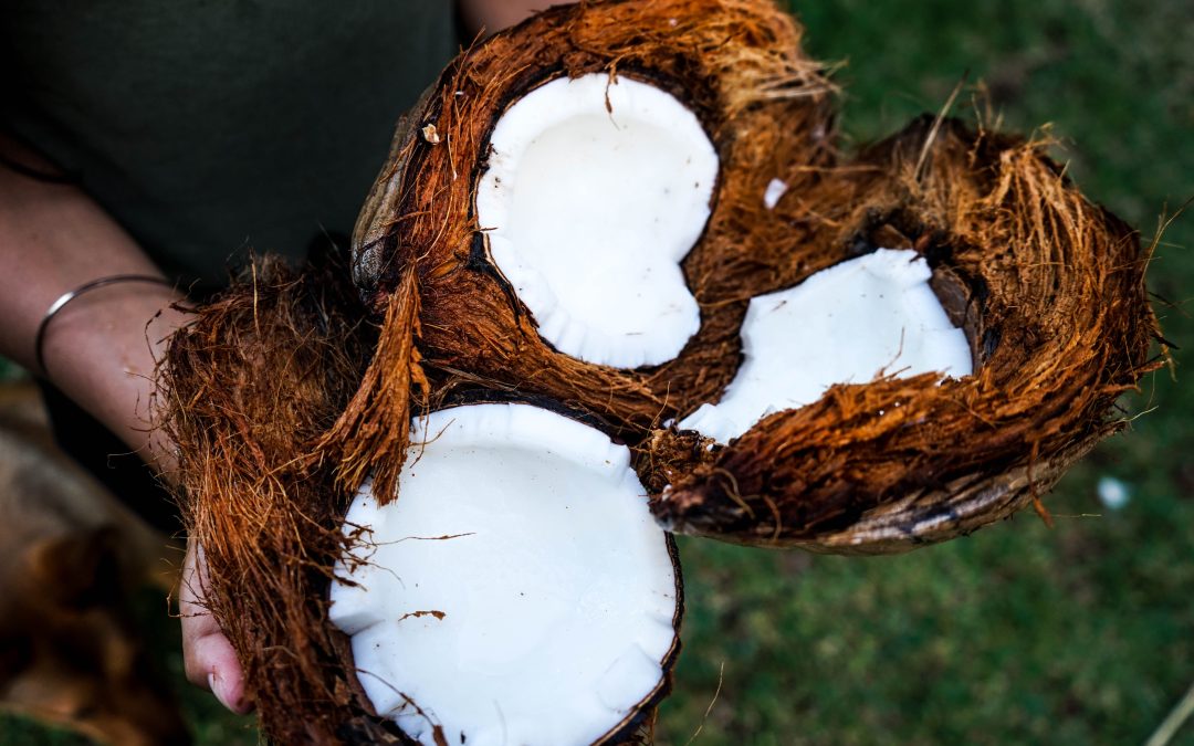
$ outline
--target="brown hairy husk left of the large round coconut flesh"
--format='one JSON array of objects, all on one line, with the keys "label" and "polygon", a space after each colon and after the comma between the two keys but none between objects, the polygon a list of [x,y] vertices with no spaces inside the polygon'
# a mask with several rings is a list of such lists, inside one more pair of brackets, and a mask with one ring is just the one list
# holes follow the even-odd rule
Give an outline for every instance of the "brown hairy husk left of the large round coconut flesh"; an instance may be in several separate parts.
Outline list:
[{"label": "brown hairy husk left of the large round coconut flesh", "polygon": [[330,467],[367,442],[328,433],[359,419],[352,403],[376,340],[346,278],[343,265],[252,267],[174,335],[159,372],[189,538],[208,566],[205,603],[263,733],[279,744],[400,740],[370,716],[346,640],[327,623],[352,494]]}]

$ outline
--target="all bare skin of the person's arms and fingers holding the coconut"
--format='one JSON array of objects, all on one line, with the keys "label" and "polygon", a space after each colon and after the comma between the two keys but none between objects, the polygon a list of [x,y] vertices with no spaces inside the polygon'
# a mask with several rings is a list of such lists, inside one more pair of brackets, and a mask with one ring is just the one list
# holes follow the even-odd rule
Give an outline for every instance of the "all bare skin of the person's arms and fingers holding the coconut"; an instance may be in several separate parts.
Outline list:
[{"label": "all bare skin of the person's arms and fingers holding the coconut", "polygon": [[[509,26],[550,0],[460,0],[467,27],[485,35]],[[0,136],[0,155],[41,173],[51,165]],[[384,153],[378,154],[378,159]],[[0,354],[47,377],[129,448],[170,479],[172,444],[152,427],[152,374],[170,334],[185,322],[170,308],[184,298],[165,285],[117,284],[72,301],[45,337],[45,368],[35,338],[47,309],[63,292],[98,277],[161,271],[82,190],[0,167]],[[252,702],[236,655],[202,605],[203,550],[192,542],[183,568],[179,605],[187,679],[210,689],[228,709]]]}]

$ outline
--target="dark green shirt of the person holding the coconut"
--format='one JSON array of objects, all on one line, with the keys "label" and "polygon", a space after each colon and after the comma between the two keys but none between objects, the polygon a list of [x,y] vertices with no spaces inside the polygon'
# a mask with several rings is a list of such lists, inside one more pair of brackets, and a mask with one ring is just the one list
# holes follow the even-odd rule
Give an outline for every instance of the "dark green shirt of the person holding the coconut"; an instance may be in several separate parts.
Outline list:
[{"label": "dark green shirt of the person holding the coconut", "polygon": [[[0,125],[172,275],[347,234],[449,0],[0,0]],[[86,247],[80,247],[86,251]]]}]

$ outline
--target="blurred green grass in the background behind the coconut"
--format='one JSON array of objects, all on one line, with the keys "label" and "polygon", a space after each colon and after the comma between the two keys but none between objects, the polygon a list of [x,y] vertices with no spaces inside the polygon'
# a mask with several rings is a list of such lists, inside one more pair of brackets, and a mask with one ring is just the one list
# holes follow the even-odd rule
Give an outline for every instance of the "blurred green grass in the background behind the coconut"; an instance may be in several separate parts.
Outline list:
[{"label": "blurred green grass in the background behind the coconut", "polygon": [[[968,72],[1008,129],[1051,123],[1069,173],[1146,240],[1167,205],[1194,195],[1194,16],[1182,4],[798,10],[812,54],[848,61],[837,79],[853,142],[938,110]],[[1194,215],[1164,235],[1150,270],[1171,302],[1157,303],[1165,335],[1184,347],[1190,247]],[[1194,390],[1182,375],[1125,399],[1149,413],[1061,481],[1047,499],[1052,530],[1024,513],[878,559],[682,541],[685,653],[660,742],[684,745],[698,727],[703,746],[1143,742],[1194,682]],[[1130,486],[1122,510],[1098,503],[1102,476]],[[209,698],[187,692],[185,707],[201,744],[253,742]],[[0,722],[0,744],[75,742],[7,740],[13,722]],[[1194,744],[1194,723],[1174,742]]]}]

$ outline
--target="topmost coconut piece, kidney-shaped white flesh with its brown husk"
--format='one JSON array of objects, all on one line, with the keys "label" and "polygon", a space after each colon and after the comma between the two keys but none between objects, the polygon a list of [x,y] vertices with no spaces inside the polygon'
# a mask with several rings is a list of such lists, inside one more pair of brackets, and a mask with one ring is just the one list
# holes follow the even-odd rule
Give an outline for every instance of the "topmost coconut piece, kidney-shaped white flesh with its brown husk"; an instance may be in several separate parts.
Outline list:
[{"label": "topmost coconut piece, kidney-shaped white flesh with its brown husk", "polygon": [[808,228],[761,196],[831,156],[832,86],[799,44],[770,2],[671,0],[554,8],[470,50],[361,214],[365,302],[383,313],[413,266],[442,386],[547,396],[635,442],[715,400],[751,295],[799,277],[768,234]]}]

